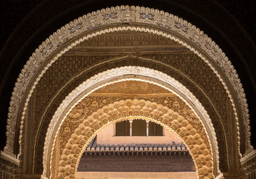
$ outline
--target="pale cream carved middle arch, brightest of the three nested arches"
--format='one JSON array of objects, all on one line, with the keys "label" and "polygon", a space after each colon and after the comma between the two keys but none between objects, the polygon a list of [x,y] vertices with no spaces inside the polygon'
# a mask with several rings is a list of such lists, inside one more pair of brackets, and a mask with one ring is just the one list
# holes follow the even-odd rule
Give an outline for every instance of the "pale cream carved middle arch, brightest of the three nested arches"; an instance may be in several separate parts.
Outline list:
[{"label": "pale cream carved middle arch, brightest of the three nested arches", "polygon": [[[139,69],[139,70],[138,70]],[[151,77],[151,78],[155,78],[157,79],[157,81],[154,81],[153,79],[146,81],[145,79],[140,79],[140,78],[123,78],[120,80],[113,80],[110,82],[106,82],[112,78],[119,78],[120,76],[123,76],[125,74],[128,75],[143,75],[145,78],[145,74],[146,77]],[[102,79],[101,79],[102,78]],[[187,105],[189,105],[189,107],[193,110],[196,109],[198,110],[198,113],[200,114],[200,116],[202,116],[201,119],[201,124],[205,124],[207,126],[207,130],[208,133],[210,133],[212,135],[211,137],[211,144],[213,145],[213,147],[215,147],[215,155],[214,157],[216,157],[216,162],[217,162],[217,171],[218,169],[218,144],[217,144],[217,139],[215,136],[215,131],[214,131],[214,127],[211,123],[211,120],[209,118],[209,115],[207,114],[207,111],[204,110],[204,107],[202,106],[202,104],[195,98],[195,96],[189,92],[189,90],[186,89],[186,87],[184,87],[182,84],[180,84],[178,81],[176,81],[175,79],[171,78],[170,76],[162,73],[162,72],[158,72],[156,70],[152,70],[152,69],[147,69],[144,67],[138,67],[138,66],[124,66],[121,68],[116,68],[116,69],[111,69],[108,70],[107,72],[103,72],[100,73],[98,75],[95,75],[94,77],[88,79],[87,81],[84,81],[83,84],[80,84],[79,87],[76,88],[76,90],[73,90],[66,98],[65,100],[62,102],[62,104],[58,107],[58,110],[56,110],[55,115],[53,116],[51,123],[49,125],[49,128],[47,130],[47,136],[45,139],[45,145],[44,145],[44,158],[43,158],[43,163],[44,163],[44,173],[47,173],[47,167],[46,164],[48,163],[47,161],[49,161],[47,159],[47,156],[49,156],[48,153],[49,150],[47,149],[51,149],[51,140],[54,139],[53,141],[53,145],[55,143],[55,138],[53,137],[55,135],[55,132],[58,133],[58,130],[61,127],[62,122],[65,120],[65,118],[67,117],[67,114],[70,113],[70,111],[73,109],[73,107],[76,106],[76,104],[78,104],[84,97],[86,97],[87,95],[89,95],[91,92],[99,89],[100,87],[106,86],[108,84],[113,84],[119,81],[127,81],[127,80],[135,80],[135,81],[146,81],[148,83],[153,83],[156,84],[160,87],[163,87],[173,93],[175,93],[177,96],[179,96]],[[100,84],[100,81],[105,81],[102,85]],[[165,84],[168,84],[167,87],[163,84],[159,84],[161,83],[161,81],[163,81]],[[101,86],[97,86],[94,88],[91,88],[92,84],[99,84]],[[169,87],[172,87],[173,90],[171,90]],[[87,90],[87,89],[90,90]],[[84,91],[87,90],[87,93],[84,95]],[[175,90],[175,91],[174,91]],[[88,92],[89,91],[89,92]],[[182,96],[186,96],[189,100],[191,101],[190,103],[186,101],[186,99],[184,99]],[[76,101],[75,104],[73,104],[74,102],[72,102],[75,99],[79,99],[78,101]],[[68,108],[68,105],[73,105],[70,109]],[[194,105],[195,107],[192,107],[192,105]],[[68,112],[66,112],[66,109],[69,109]],[[196,116],[198,117],[198,114],[195,112],[195,110],[193,110],[193,112],[196,114]],[[61,116],[64,115],[64,118],[62,119]],[[198,117],[199,118],[199,117]],[[200,119],[200,118],[199,118]],[[55,129],[57,128],[58,129]],[[209,131],[210,130],[210,131]],[[53,147],[52,147],[53,150]]]}]

